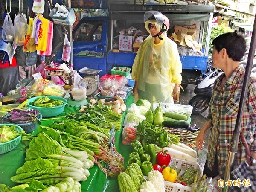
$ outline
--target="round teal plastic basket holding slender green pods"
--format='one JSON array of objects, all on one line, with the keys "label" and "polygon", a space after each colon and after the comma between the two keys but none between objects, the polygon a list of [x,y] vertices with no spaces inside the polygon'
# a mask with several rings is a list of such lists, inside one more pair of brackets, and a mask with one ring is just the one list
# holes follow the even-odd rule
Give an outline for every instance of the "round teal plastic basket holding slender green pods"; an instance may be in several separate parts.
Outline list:
[{"label": "round teal plastic basket holding slender green pods", "polygon": [[[59,100],[59,101],[63,102],[63,105],[59,105],[59,106],[51,107],[51,108],[41,108],[41,107],[36,107],[36,106],[30,105],[31,102],[35,101],[39,97],[43,97],[43,98],[44,97],[49,97],[49,99]],[[38,97],[32,97],[27,102],[27,106],[30,109],[38,110],[42,114],[43,117],[52,117],[52,116],[60,115],[61,113],[63,113],[65,105],[67,105],[67,99],[64,99],[63,97],[59,97],[59,96],[38,96]]]}]

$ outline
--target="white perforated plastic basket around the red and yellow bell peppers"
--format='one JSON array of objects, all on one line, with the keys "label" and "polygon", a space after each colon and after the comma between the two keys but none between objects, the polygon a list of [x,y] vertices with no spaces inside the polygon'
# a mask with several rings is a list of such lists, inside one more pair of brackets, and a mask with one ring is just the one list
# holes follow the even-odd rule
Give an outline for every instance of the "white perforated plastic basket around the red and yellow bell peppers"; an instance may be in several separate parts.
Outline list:
[{"label": "white perforated plastic basket around the red and yellow bell peppers", "polygon": [[[182,167],[189,167],[199,171],[200,177],[202,177],[203,173],[198,163],[189,162],[181,159],[171,159],[171,163],[174,163],[177,169],[181,169]],[[170,163],[170,164],[171,164]],[[145,179],[148,177],[144,176]],[[164,181],[165,191],[166,192],[192,192],[192,187],[181,185],[180,183],[172,183],[169,181]]]}]

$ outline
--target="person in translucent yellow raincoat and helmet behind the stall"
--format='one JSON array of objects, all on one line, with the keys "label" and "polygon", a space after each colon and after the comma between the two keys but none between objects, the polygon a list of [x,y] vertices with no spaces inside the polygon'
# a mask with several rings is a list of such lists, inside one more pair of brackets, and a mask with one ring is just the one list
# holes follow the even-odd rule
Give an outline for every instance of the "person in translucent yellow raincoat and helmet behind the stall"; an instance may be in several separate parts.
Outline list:
[{"label": "person in translucent yellow raincoat and helmet behind the stall", "polygon": [[144,22],[150,35],[141,44],[132,66],[134,99],[173,103],[172,96],[180,90],[182,66],[176,43],[167,37],[169,19],[161,12],[148,11]]}]

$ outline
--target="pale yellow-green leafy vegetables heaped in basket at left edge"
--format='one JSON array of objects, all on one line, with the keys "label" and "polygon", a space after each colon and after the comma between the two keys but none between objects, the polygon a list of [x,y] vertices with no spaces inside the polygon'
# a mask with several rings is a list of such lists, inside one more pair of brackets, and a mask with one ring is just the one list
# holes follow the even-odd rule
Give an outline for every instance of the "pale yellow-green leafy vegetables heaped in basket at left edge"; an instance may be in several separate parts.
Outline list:
[{"label": "pale yellow-green leafy vegetables heaped in basket at left edge", "polygon": [[15,126],[1,125],[0,128],[0,143],[6,143],[8,141],[14,140],[21,133],[15,130]]}]

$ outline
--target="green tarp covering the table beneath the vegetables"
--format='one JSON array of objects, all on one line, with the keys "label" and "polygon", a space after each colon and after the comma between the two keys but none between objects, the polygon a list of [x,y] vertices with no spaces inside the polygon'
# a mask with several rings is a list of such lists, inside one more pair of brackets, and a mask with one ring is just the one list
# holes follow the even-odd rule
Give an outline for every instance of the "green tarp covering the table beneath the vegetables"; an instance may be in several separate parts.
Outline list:
[{"label": "green tarp covering the table beneath the vegetables", "polygon": [[[129,96],[128,100],[126,101],[127,107],[130,106],[133,102],[133,96]],[[66,106],[64,113],[76,112],[78,109],[79,108],[76,107]],[[125,112],[123,114],[123,119],[124,116]],[[43,121],[42,125],[47,126],[52,122],[53,121]],[[115,146],[116,150],[124,157],[126,166],[128,156],[132,152],[133,148],[129,145],[122,144],[121,135],[122,129],[120,131],[115,131]],[[5,184],[10,187],[16,185],[10,180],[10,178],[15,175],[16,170],[19,167],[23,166],[25,162],[25,153],[22,150],[23,147],[24,146],[20,143],[14,150],[6,154],[1,154],[0,180],[2,184]],[[105,174],[99,169],[99,167],[96,164],[94,164],[94,166],[89,169],[89,172],[90,176],[87,178],[87,180],[80,182],[82,192],[119,192],[117,178],[106,178]]]}]

